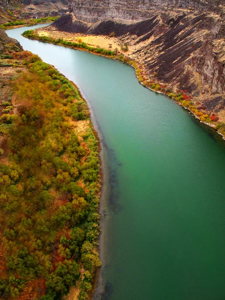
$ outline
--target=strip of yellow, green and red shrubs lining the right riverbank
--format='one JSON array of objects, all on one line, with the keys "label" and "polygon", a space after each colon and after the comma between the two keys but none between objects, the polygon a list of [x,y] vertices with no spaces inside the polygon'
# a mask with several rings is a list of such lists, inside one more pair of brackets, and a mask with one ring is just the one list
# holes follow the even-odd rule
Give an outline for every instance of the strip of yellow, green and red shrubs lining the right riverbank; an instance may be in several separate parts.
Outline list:
[{"label": "strip of yellow, green and red shrubs lining the right riverbank", "polygon": [[[48,32],[48,33],[47,33]],[[50,30],[52,32],[52,30]],[[208,114],[206,111],[203,111],[202,108],[205,109],[204,106],[200,105],[200,102],[193,103],[193,97],[191,94],[188,94],[185,91],[176,90],[173,91],[171,88],[166,88],[165,84],[161,84],[160,82],[157,82],[157,74],[155,74],[155,79],[152,81],[152,78],[149,78],[145,72],[144,65],[138,61],[132,60],[129,56],[124,55],[124,53],[117,53],[117,50],[108,50],[104,48],[98,48],[94,47],[91,44],[87,44],[80,40],[80,42],[74,42],[73,40],[79,39],[77,35],[71,35],[69,34],[69,37],[67,36],[67,40],[61,38],[62,32],[55,31],[52,34],[49,34],[49,30],[44,31],[43,28],[41,29],[35,29],[35,30],[29,30],[25,31],[22,35],[31,39],[37,39],[44,42],[50,42],[53,44],[59,44],[63,46],[68,46],[72,48],[78,48],[81,50],[90,51],[94,54],[102,54],[104,56],[108,56],[109,58],[118,59],[121,60],[132,67],[134,67],[136,72],[136,77],[138,81],[144,85],[145,87],[151,89],[152,91],[162,93],[164,95],[167,95],[171,98],[173,98],[179,105],[182,105],[184,108],[188,109],[192,115],[199,119],[204,124],[213,127],[217,132],[222,135],[224,139],[225,135],[225,123],[223,121],[218,121],[218,116],[215,113],[212,113],[211,115]],[[72,37],[73,36],[73,37]],[[91,39],[95,39],[97,37],[91,36]],[[89,39],[90,40],[90,39]]]}]

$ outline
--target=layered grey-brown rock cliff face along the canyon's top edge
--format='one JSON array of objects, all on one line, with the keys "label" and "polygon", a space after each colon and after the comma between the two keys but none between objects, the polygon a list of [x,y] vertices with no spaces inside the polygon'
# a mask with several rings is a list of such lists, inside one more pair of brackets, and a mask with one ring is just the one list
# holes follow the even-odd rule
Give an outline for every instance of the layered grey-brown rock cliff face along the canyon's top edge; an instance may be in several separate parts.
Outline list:
[{"label": "layered grey-brown rock cliff face along the canyon's top edge", "polygon": [[224,0],[68,0],[70,12],[80,20],[96,22],[105,18],[144,20],[154,11],[195,9],[219,11]]}]

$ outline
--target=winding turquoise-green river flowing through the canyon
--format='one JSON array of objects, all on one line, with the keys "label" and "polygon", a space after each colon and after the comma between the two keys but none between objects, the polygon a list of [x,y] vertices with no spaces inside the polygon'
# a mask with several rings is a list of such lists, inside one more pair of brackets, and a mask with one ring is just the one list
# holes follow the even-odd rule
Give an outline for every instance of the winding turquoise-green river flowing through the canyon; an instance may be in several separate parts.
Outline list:
[{"label": "winding turquoise-green river flowing through the canyon", "polygon": [[[38,25],[39,27],[42,25]],[[75,82],[104,157],[99,300],[224,300],[224,141],[119,61],[7,30]]]}]

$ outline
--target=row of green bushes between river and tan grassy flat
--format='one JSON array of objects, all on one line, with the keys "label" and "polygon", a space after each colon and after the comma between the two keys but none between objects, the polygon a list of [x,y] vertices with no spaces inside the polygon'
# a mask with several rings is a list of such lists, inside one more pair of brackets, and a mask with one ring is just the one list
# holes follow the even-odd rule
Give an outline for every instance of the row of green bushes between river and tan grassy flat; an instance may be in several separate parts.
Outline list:
[{"label": "row of green bushes between river and tan grassy flat", "polygon": [[87,50],[90,52],[99,53],[99,54],[103,54],[103,55],[109,55],[109,56],[115,55],[114,51],[107,50],[107,49],[100,48],[100,47],[91,47],[88,44],[86,44],[85,42],[67,41],[62,38],[53,38],[53,37],[45,36],[45,35],[40,36],[35,32],[35,30],[26,30],[22,33],[22,35],[25,37],[37,39],[40,41],[51,42],[51,43],[69,46],[69,47],[73,47],[73,48],[80,48],[80,49],[84,49],[84,50]]}]

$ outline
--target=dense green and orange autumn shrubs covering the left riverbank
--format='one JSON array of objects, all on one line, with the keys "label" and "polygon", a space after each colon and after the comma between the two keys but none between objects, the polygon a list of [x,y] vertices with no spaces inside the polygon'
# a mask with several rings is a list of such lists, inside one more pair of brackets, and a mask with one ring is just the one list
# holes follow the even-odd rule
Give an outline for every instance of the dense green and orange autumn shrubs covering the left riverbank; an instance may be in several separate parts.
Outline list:
[{"label": "dense green and orange autumn shrubs covering the left riverbank", "polygon": [[1,104],[0,298],[60,299],[76,283],[87,299],[100,265],[98,142],[87,105],[37,55],[10,56],[27,70]]}]

